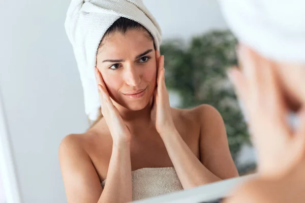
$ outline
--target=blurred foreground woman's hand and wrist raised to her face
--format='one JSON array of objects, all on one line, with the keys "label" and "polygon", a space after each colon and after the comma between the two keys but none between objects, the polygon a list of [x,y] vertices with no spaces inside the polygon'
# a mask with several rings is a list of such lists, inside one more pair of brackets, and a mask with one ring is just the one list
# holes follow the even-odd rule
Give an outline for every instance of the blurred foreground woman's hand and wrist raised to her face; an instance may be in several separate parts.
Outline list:
[{"label": "blurred foreground woman's hand and wrist raised to her face", "polygon": [[[292,130],[287,120],[291,109],[284,95],[284,82],[279,77],[280,67],[245,45],[240,45],[238,58],[241,67],[231,69],[228,74],[249,117],[252,141],[258,152],[258,171],[266,176],[283,175],[304,158],[304,102],[298,101],[301,108],[297,115],[301,124]],[[301,89],[294,84],[297,81],[289,83]]]}]

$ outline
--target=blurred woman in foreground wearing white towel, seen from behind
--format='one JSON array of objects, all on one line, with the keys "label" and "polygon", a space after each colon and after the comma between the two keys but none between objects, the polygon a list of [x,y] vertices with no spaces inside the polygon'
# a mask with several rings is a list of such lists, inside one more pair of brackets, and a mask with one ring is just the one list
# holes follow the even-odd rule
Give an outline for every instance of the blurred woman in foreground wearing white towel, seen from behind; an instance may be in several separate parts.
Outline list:
[{"label": "blurred woman in foreground wearing white towel, seen from behind", "polygon": [[258,177],[226,202],[304,202],[305,2],[220,3],[240,42],[239,67],[228,75],[258,152]]}]

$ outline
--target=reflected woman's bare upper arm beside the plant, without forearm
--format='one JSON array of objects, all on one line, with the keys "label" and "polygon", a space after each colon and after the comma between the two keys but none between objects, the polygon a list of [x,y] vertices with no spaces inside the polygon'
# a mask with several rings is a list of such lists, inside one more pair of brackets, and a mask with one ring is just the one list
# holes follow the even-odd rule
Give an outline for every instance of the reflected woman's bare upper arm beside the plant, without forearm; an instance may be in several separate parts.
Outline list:
[{"label": "reflected woman's bare upper arm beside the plant, without forearm", "polygon": [[209,105],[202,105],[199,108],[201,163],[221,179],[238,177],[222,116]]}]

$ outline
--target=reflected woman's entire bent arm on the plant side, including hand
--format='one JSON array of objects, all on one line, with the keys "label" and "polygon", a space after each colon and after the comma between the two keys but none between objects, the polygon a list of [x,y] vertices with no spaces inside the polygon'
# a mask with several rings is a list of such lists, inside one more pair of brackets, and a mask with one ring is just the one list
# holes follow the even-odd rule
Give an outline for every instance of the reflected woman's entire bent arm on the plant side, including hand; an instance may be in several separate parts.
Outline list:
[{"label": "reflected woman's entire bent arm on the plant side, including hand", "polygon": [[[224,122],[214,108],[202,105],[195,111],[199,113],[196,114],[200,121],[201,160],[181,138],[171,115],[169,94],[165,85],[164,56],[160,56],[159,52],[156,54],[157,93],[151,109],[151,119],[156,124],[184,189],[238,176],[229,151]],[[209,150],[206,150],[207,147]]]}]

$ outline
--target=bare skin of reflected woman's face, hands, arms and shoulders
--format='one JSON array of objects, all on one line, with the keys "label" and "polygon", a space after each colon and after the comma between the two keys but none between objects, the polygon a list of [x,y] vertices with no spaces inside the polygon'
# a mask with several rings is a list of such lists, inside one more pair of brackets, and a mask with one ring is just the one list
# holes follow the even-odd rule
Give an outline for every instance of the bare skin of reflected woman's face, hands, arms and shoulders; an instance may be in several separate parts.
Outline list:
[{"label": "bare skin of reflected woman's face, hands, arms and shoulders", "polygon": [[[164,56],[147,32],[105,38],[96,78],[104,117],[59,147],[68,202],[131,201],[131,172],[145,167],[173,166],[184,189],[238,176],[217,110],[170,107]],[[140,89],[145,89],[141,98],[125,95]]]}]

